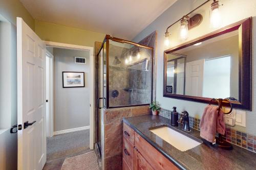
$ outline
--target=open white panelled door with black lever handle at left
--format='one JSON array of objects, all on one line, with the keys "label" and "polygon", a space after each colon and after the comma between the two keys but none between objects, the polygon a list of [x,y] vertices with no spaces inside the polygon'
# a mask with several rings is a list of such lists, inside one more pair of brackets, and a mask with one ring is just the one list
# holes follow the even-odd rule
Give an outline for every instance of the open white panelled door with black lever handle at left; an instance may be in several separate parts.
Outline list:
[{"label": "open white panelled door with black lever handle at left", "polygon": [[[18,169],[42,169],[46,162],[44,42],[17,17]],[[25,126],[26,122],[32,124]]]}]

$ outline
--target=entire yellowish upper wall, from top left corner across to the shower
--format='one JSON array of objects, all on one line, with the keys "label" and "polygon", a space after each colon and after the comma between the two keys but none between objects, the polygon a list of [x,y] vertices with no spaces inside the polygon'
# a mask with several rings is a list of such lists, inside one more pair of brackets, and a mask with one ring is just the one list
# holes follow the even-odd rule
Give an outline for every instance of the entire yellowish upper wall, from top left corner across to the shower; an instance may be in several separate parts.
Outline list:
[{"label": "entire yellowish upper wall, from top left corner across to the shower", "polygon": [[19,0],[0,0],[0,15],[16,26],[16,17],[22,17],[35,33],[46,41],[75,45],[94,46],[95,41],[102,42],[105,34],[97,33],[54,23],[35,20]]}]

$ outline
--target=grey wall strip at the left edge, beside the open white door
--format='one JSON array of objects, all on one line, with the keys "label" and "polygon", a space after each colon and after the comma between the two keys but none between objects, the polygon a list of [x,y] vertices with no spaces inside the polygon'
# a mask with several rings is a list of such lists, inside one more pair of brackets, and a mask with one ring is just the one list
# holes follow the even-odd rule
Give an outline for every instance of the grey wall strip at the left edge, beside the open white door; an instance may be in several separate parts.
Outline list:
[{"label": "grey wall strip at the left edge, beside the open white door", "polygon": [[0,14],[0,169],[17,167],[16,27]]}]

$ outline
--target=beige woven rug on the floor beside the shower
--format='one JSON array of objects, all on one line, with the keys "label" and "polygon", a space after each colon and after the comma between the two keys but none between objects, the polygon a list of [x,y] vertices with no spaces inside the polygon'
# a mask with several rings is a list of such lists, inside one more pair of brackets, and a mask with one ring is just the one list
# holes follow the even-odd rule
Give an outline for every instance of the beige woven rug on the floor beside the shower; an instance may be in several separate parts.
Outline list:
[{"label": "beige woven rug on the floor beside the shower", "polygon": [[97,156],[94,151],[66,158],[61,170],[99,170]]}]

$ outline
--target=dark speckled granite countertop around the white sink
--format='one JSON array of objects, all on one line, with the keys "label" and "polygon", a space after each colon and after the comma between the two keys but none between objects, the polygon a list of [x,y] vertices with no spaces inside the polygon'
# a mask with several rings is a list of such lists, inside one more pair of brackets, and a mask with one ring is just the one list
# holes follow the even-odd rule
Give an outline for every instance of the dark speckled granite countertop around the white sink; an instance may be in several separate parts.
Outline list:
[{"label": "dark speckled granite countertop around the white sink", "polygon": [[[205,143],[184,152],[176,149],[149,130],[156,126],[170,125],[170,119],[160,115],[125,117],[123,122],[180,169],[256,169],[256,154],[236,145],[233,145],[233,150],[230,151]],[[175,128],[181,129],[180,125]],[[191,128],[190,132],[185,133],[201,139],[200,132],[195,129]]]}]

